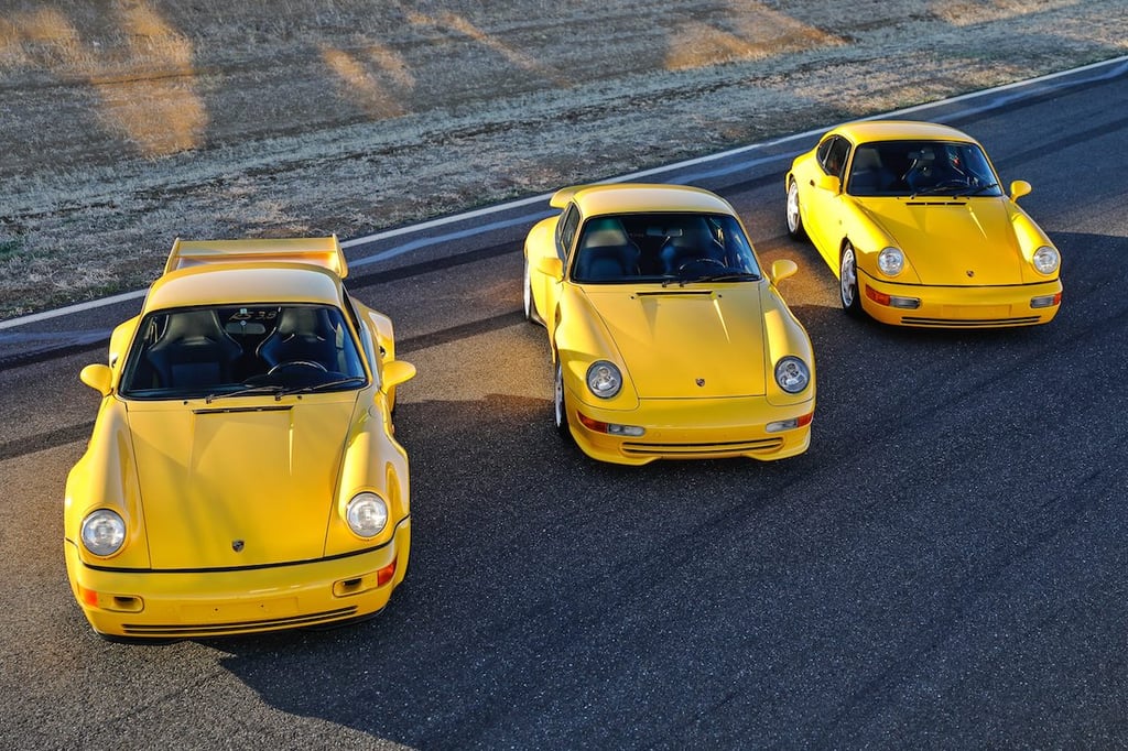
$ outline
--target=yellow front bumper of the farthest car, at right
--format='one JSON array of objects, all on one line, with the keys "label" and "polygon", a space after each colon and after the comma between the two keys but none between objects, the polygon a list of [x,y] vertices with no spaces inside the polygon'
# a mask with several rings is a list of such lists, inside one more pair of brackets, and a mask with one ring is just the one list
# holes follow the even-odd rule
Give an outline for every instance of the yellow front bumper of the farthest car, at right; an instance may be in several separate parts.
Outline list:
[{"label": "yellow front bumper of the farthest car, at right", "polygon": [[[1006,286],[925,286],[890,284],[858,270],[862,309],[883,324],[927,328],[999,328],[1037,326],[1054,320],[1060,308],[1061,281]],[[879,302],[882,298],[917,300],[916,308]],[[1055,300],[1034,307],[1034,300]],[[902,303],[905,304],[905,303]]]}]

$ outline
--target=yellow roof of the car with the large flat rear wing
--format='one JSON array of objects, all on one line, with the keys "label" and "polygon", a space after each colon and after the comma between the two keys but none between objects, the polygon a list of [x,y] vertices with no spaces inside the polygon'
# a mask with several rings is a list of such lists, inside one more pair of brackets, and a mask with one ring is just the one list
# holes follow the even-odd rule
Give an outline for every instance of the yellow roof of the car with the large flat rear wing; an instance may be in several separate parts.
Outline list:
[{"label": "yellow roof of the car with the large flat rear wing", "polygon": [[310,264],[246,263],[193,266],[165,274],[149,288],[144,308],[305,302],[342,307],[341,277]]}]

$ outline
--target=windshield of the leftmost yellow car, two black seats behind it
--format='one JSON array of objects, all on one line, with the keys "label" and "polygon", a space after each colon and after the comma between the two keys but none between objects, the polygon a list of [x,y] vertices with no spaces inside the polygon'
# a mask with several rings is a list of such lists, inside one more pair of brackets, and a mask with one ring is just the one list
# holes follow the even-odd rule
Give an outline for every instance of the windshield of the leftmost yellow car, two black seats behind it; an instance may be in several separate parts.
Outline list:
[{"label": "windshield of the leftmost yellow car, two black seats behind it", "polygon": [[360,350],[331,306],[162,310],[144,317],[120,392],[135,399],[209,399],[345,390],[368,382]]}]

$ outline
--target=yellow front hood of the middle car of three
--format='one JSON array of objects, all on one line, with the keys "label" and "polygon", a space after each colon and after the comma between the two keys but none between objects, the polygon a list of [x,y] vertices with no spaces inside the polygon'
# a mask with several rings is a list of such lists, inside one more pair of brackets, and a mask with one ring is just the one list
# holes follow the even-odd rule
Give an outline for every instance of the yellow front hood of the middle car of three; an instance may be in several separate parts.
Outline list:
[{"label": "yellow front hood of the middle car of three", "polygon": [[642,399],[764,394],[760,284],[591,289]]}]

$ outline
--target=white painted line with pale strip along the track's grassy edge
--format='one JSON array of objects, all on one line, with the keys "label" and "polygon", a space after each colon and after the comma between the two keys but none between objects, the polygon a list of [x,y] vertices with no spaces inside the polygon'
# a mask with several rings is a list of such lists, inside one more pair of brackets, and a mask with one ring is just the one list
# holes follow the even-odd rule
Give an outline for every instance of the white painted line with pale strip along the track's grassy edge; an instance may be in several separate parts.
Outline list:
[{"label": "white painted line with pale strip along the track's grassy edge", "polygon": [[[896,112],[882,113],[880,115],[871,115],[870,117],[860,118],[860,120],[878,120],[878,118],[885,118],[885,117],[904,117],[906,115],[911,115],[911,114],[916,114],[916,113],[920,113],[920,112],[927,112],[928,109],[935,109],[937,107],[944,107],[946,105],[958,104],[960,101],[969,101],[969,100],[972,100],[972,99],[978,99],[980,97],[993,98],[993,100],[990,101],[990,104],[988,104],[988,105],[986,105],[984,107],[971,108],[971,109],[968,111],[968,112],[971,112],[971,113],[985,112],[987,109],[996,108],[996,107],[998,107],[998,106],[1001,106],[1003,104],[1007,104],[1010,101],[1013,101],[1014,99],[1019,99],[1022,96],[1024,96],[1024,94],[1022,94],[1022,92],[1016,92],[1014,96],[1007,97],[1007,98],[1002,99],[1002,100],[994,99],[994,97],[996,97],[998,94],[1002,94],[1004,91],[1019,91],[1019,90],[1022,90],[1022,89],[1029,89],[1029,88],[1033,88],[1033,87],[1036,87],[1038,85],[1041,85],[1041,83],[1046,83],[1046,82],[1054,81],[1054,80],[1059,79],[1059,78],[1064,78],[1066,76],[1075,76],[1077,73],[1084,73],[1085,71],[1098,70],[1098,69],[1101,69],[1101,68],[1108,68],[1109,70],[1105,73],[1103,73],[1102,76],[1098,76],[1098,77],[1095,77],[1093,79],[1090,79],[1090,80],[1103,80],[1103,79],[1110,79],[1110,78],[1114,78],[1117,76],[1120,76],[1121,73],[1123,73],[1123,71],[1126,69],[1128,69],[1128,55],[1125,55],[1125,56],[1121,56],[1121,58],[1113,58],[1112,60],[1104,60],[1104,61],[1101,61],[1101,62],[1091,63],[1089,65],[1083,65],[1081,68],[1074,68],[1072,70],[1059,71],[1057,73],[1049,73],[1047,76],[1041,76],[1039,78],[1032,78],[1032,79],[1029,79],[1029,80],[1025,80],[1025,81],[1015,81],[1013,83],[1006,83],[1004,86],[997,86],[997,87],[995,87],[993,89],[984,89],[981,91],[969,91],[968,94],[961,94],[959,96],[951,97],[949,99],[941,99],[940,101],[928,101],[928,103],[925,103],[925,104],[915,105],[913,107],[906,107],[904,109],[898,109]],[[778,138],[778,139],[775,139],[775,140],[772,140],[772,141],[765,141],[763,143],[752,143],[752,144],[749,144],[749,145],[737,148],[737,149],[730,149],[729,151],[721,151],[719,153],[707,154],[705,157],[697,157],[695,159],[687,159],[686,161],[679,161],[679,162],[673,164],[673,165],[666,165],[666,166],[662,166],[662,167],[655,167],[653,169],[644,169],[642,171],[631,173],[629,175],[620,175],[618,177],[611,177],[611,178],[608,178],[606,180],[600,180],[600,182],[601,183],[620,183],[620,182],[622,183],[628,183],[628,182],[637,182],[637,180],[644,179],[644,178],[652,178],[652,177],[655,177],[655,176],[659,176],[659,175],[663,175],[663,174],[667,174],[667,173],[675,173],[675,171],[678,171],[678,170],[684,170],[684,169],[687,169],[689,167],[696,167],[696,166],[699,166],[699,165],[708,165],[710,162],[719,161],[719,160],[722,160],[722,159],[732,159],[733,157],[739,157],[740,154],[743,154],[743,153],[750,153],[750,152],[757,151],[757,150],[769,149],[769,148],[773,148],[773,147],[778,147],[778,145],[783,145],[783,144],[786,144],[786,143],[791,143],[793,141],[802,141],[802,140],[811,139],[811,138],[814,138],[817,135],[821,135],[822,133],[825,133],[828,130],[830,130],[830,127],[832,127],[832,125],[828,125],[826,127],[819,127],[819,129],[805,131],[803,133],[794,133],[792,135],[785,135],[783,138]],[[719,176],[722,176],[722,175],[728,175],[728,174],[731,174],[731,173],[734,173],[734,171],[739,171],[739,170],[742,170],[742,169],[748,169],[750,167],[755,167],[755,166],[763,165],[763,164],[766,164],[766,162],[776,161],[776,160],[781,160],[781,159],[787,159],[788,156],[790,154],[778,154],[778,156],[773,156],[773,157],[763,157],[763,158],[759,158],[759,159],[752,159],[752,160],[749,160],[749,161],[743,161],[743,162],[739,162],[739,164],[735,164],[735,165],[731,165],[729,167],[725,167],[724,169],[716,170],[716,171],[697,173],[697,174],[687,176],[684,179],[686,182],[691,182],[694,179],[704,179],[704,178],[707,178],[707,177],[719,177]],[[344,240],[341,244],[341,247],[342,248],[351,248],[351,247],[355,247],[355,246],[360,246],[360,245],[368,245],[369,242],[376,242],[376,241],[379,241],[379,240],[387,240],[387,239],[390,239],[390,238],[402,237],[404,235],[412,235],[412,233],[416,233],[416,232],[425,232],[428,230],[432,230],[432,229],[435,229],[435,228],[439,228],[439,227],[446,227],[447,224],[453,224],[456,222],[464,222],[464,221],[467,221],[467,220],[470,220],[470,219],[477,219],[479,217],[490,217],[492,214],[499,214],[499,213],[502,213],[502,212],[505,212],[505,211],[511,211],[513,209],[520,209],[522,206],[530,206],[530,205],[537,205],[537,204],[540,204],[540,203],[545,203],[545,202],[548,201],[548,198],[550,196],[552,196],[552,193],[543,193],[540,195],[529,196],[527,198],[520,198],[518,201],[510,201],[508,203],[501,203],[501,204],[496,204],[496,205],[493,205],[493,206],[484,206],[482,209],[475,209],[474,211],[467,211],[467,212],[464,212],[464,213],[460,213],[460,214],[451,214],[450,217],[442,217],[440,219],[432,219],[432,220],[429,220],[429,221],[420,222],[418,224],[409,224],[409,226],[406,226],[406,227],[398,227],[396,229],[384,230],[384,231],[380,231],[380,232],[374,232],[372,235],[365,235],[364,237],[356,237],[356,238],[352,238],[351,240]],[[381,253],[377,253],[377,254],[373,254],[373,255],[370,255],[370,256],[364,256],[363,258],[358,258],[358,259],[354,259],[354,260],[350,260],[349,262],[349,267],[350,268],[355,268],[355,267],[368,266],[370,264],[379,263],[381,260],[387,260],[388,258],[394,258],[396,256],[404,255],[405,253],[411,253],[412,250],[417,250],[420,248],[428,247],[428,246],[431,246],[431,245],[434,245],[434,244],[438,244],[438,242],[447,242],[447,241],[450,241],[452,239],[472,237],[474,235],[481,235],[482,232],[488,232],[488,231],[492,231],[494,229],[502,229],[502,228],[506,228],[506,227],[513,227],[514,224],[522,223],[522,222],[526,222],[526,221],[536,221],[536,219],[538,219],[540,217],[544,217],[544,215],[547,215],[547,214],[545,214],[545,213],[526,214],[523,217],[519,217],[519,218],[512,219],[512,220],[504,220],[504,221],[500,221],[500,222],[493,222],[493,223],[487,223],[487,224],[475,226],[474,228],[470,228],[470,229],[467,229],[467,230],[462,230],[462,231],[458,231],[458,232],[450,232],[450,233],[441,235],[441,236],[433,237],[433,238],[422,238],[422,239],[418,239],[418,240],[413,240],[411,242],[406,242],[404,245],[397,246],[395,248],[390,248],[388,250],[384,250]],[[16,328],[18,326],[26,326],[28,324],[35,324],[35,323],[38,323],[38,321],[42,321],[42,320],[49,320],[51,318],[59,318],[59,317],[62,317],[62,316],[70,316],[72,313],[83,312],[83,311],[87,311],[87,310],[94,310],[96,308],[103,308],[105,306],[112,306],[112,304],[115,304],[115,303],[118,303],[118,302],[125,302],[125,301],[129,301],[129,300],[139,300],[139,299],[141,299],[141,298],[144,297],[146,292],[147,292],[147,290],[138,290],[135,292],[125,292],[125,293],[122,293],[122,294],[115,294],[115,295],[109,297],[109,298],[103,298],[100,300],[90,300],[88,302],[80,302],[80,303],[77,303],[77,304],[73,304],[73,306],[67,306],[65,308],[58,308],[55,310],[45,310],[43,312],[33,313],[30,316],[24,316],[23,318],[12,318],[12,319],[9,319],[9,320],[3,320],[3,321],[0,321],[0,330],[5,330],[5,329],[9,329],[9,328]]]}]

